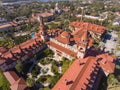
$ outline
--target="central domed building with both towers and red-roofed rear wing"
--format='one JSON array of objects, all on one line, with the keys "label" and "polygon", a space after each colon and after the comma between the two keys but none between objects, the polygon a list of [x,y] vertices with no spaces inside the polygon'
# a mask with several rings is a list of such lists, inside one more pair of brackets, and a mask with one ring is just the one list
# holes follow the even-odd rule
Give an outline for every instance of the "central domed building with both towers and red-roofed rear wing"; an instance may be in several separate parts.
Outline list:
[{"label": "central domed building with both towers and red-roofed rear wing", "polygon": [[57,29],[49,30],[49,32],[46,33],[43,22],[41,20],[40,22],[42,27],[40,28],[41,38],[44,41],[48,40],[48,47],[52,49],[55,52],[55,56],[59,58],[84,58],[86,51],[93,46],[94,38],[100,38],[105,31],[105,27],[103,26],[85,22],[72,22],[70,24],[72,32]]}]

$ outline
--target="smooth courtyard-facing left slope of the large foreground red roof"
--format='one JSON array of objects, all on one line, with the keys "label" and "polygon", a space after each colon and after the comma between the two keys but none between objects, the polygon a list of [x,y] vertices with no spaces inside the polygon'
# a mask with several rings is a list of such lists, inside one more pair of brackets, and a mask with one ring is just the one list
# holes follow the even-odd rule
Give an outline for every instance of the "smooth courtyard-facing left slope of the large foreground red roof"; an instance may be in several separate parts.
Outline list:
[{"label": "smooth courtyard-facing left slope of the large foreground red roof", "polygon": [[70,66],[70,68],[64,73],[64,75],[60,78],[60,80],[56,83],[56,85],[52,88],[52,90],[69,90],[73,83],[70,85],[66,85],[66,79],[67,81],[74,82],[74,80],[77,78],[79,72],[83,68],[84,65],[79,65],[80,60],[75,60],[73,64]]}]

